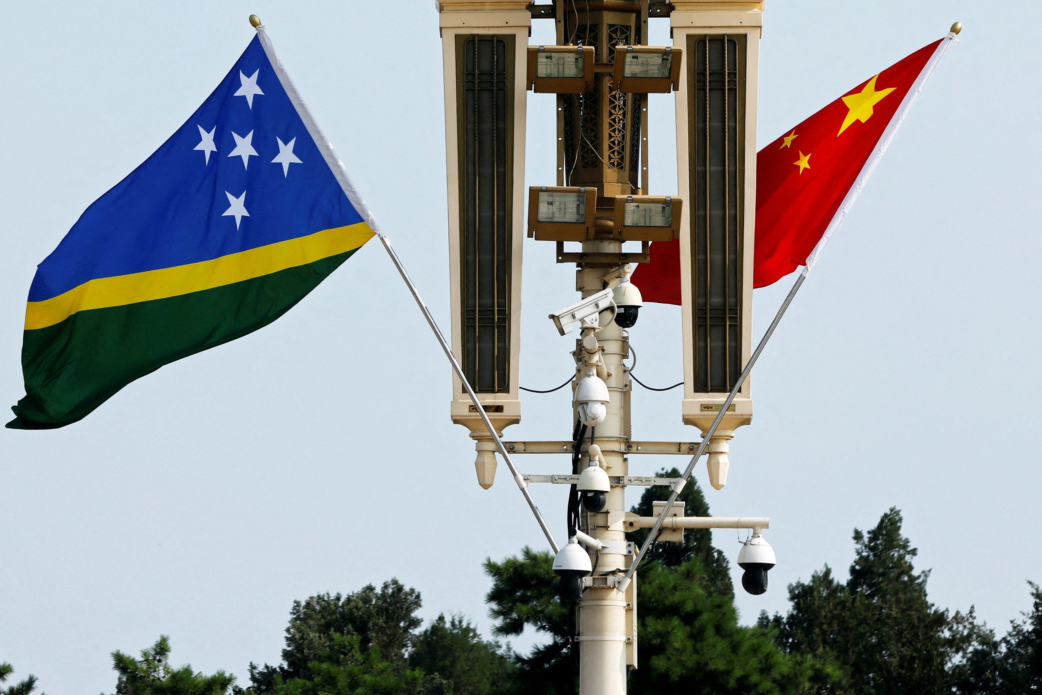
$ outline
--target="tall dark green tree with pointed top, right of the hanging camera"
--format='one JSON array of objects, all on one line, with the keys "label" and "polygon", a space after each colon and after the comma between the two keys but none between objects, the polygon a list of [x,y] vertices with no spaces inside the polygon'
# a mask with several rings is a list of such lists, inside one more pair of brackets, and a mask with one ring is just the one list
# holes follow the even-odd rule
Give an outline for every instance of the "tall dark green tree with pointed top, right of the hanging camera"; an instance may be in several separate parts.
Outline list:
[{"label": "tall dark green tree with pointed top, right of the hanging camera", "polygon": [[792,609],[772,621],[788,652],[817,657],[842,673],[830,685],[819,684],[819,692],[951,692],[953,668],[987,637],[972,609],[949,615],[929,602],[929,573],[916,573],[917,551],[901,536],[901,521],[891,508],[867,535],[855,529],[846,584],[825,567],[809,582],[790,586]]}]

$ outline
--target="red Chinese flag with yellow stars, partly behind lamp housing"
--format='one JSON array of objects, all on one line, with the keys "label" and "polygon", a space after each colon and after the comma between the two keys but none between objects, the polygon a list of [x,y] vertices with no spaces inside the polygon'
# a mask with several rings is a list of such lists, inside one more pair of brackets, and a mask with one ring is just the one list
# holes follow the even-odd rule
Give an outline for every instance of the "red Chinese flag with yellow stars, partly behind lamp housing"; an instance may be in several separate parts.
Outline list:
[{"label": "red Chinese flag with yellow stars, partly behind lamp housing", "polygon": [[[878,146],[903,118],[942,39],[884,70],[756,153],[756,245],[752,287],[776,282],[813,265],[864,184]],[[841,209],[842,206],[842,209]],[[686,206],[691,209],[690,205]],[[655,242],[651,263],[634,274],[645,301],[680,303],[680,243]]]}]

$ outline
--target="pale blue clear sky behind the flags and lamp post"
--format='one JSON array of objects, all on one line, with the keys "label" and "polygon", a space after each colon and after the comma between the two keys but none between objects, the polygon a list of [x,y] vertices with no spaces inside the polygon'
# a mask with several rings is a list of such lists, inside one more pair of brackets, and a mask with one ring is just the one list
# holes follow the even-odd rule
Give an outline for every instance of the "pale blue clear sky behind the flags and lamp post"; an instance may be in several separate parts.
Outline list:
[{"label": "pale blue clear sky behind the flags and lamp post", "polygon": [[[259,15],[318,122],[448,327],[441,49],[433,3],[0,2],[0,406],[22,396],[24,300],[93,200],[217,85]],[[772,0],[760,142],[941,38],[952,46],[753,373],[718,515],[765,515],[771,590],[828,563],[891,505],[931,597],[1004,630],[1042,580],[1037,4]],[[668,43],[668,23],[652,21]],[[532,42],[551,43],[536,22]],[[527,179],[553,176],[552,97],[529,100]],[[672,97],[651,99],[651,183],[675,194]],[[571,370],[546,320],[574,297],[552,245],[525,242],[522,383]],[[789,282],[755,294],[755,333]],[[631,332],[638,375],[680,378],[679,312]],[[634,395],[641,439],[690,440],[680,394]],[[0,661],[50,695],[111,692],[108,652],[159,634],[174,661],[246,679],[275,663],[294,599],[397,576],[423,615],[482,631],[480,563],[543,545],[502,469],[475,482],[448,418],[449,369],[376,245],[275,324],[168,366],[54,431],[0,430]],[[508,439],[565,439],[567,391],[525,394]],[[637,474],[683,460],[634,456]],[[521,458],[528,472],[564,470]],[[697,472],[705,485],[704,467]],[[536,489],[564,535],[563,491]],[[636,492],[630,495],[636,499]],[[734,531],[716,531],[734,559]],[[522,644],[527,645],[527,638]]]}]

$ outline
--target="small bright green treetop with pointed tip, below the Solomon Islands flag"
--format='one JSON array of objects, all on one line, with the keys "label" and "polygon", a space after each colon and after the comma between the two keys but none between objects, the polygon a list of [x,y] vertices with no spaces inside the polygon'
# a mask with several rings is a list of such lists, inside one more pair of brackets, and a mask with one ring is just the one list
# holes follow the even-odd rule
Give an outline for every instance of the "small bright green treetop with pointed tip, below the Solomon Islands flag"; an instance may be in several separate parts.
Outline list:
[{"label": "small bright green treetop with pointed tip, below the Solomon Islands flag", "polygon": [[224,695],[235,681],[235,676],[224,671],[207,676],[188,665],[171,667],[166,635],[151,648],[143,649],[141,659],[114,651],[113,668],[119,674],[116,695]]}]

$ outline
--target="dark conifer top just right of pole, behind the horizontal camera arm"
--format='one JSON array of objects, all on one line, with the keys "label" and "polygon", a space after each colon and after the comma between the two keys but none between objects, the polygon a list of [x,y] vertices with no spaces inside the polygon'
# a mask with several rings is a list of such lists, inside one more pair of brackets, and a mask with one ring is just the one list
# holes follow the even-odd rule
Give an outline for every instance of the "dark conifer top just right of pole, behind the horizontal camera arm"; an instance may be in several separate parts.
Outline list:
[{"label": "dark conifer top just right of pole, behind the horizontal camera arm", "polygon": [[[680,471],[675,468],[664,469],[656,475],[660,477],[678,478],[680,477]],[[670,494],[671,491],[669,488],[650,486],[644,491],[640,502],[630,512],[639,514],[642,517],[653,516],[652,502],[666,501],[669,499]],[[693,478],[680,491],[677,500],[684,502],[685,516],[710,516],[710,505],[705,501],[705,495],[702,493],[702,489],[698,486],[698,482]],[[641,529],[628,533],[626,538],[640,545],[644,543],[647,535],[648,531],[646,529]],[[656,560],[669,567],[676,567],[692,557],[698,557],[702,566],[702,573],[699,575],[698,581],[702,582],[706,590],[725,596],[733,596],[735,593],[735,587],[730,582],[730,564],[721,550],[713,547],[713,531],[709,528],[689,528],[685,530],[684,543],[653,543],[648,548],[646,557],[648,560]]]}]

